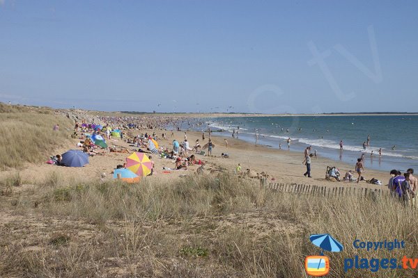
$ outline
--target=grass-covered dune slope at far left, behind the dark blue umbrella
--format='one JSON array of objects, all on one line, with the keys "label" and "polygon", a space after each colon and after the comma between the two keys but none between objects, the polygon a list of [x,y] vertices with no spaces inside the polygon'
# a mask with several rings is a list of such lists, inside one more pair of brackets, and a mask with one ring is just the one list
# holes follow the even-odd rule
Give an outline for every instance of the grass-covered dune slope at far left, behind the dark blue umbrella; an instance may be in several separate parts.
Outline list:
[{"label": "grass-covered dune slope at far left, behind the dark blue umbrella", "polygon": [[[56,147],[70,138],[72,121],[49,108],[10,106],[0,103],[0,167],[22,167],[46,161]],[[52,130],[59,124],[60,130]]]}]

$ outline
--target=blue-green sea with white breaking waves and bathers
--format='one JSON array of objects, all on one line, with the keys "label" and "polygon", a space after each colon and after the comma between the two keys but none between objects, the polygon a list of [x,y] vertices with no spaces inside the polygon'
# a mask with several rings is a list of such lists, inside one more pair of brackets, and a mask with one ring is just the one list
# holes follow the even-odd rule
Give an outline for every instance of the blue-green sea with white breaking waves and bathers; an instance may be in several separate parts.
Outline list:
[{"label": "blue-green sea with white breaking waves and bathers", "polygon": [[[418,115],[217,117],[184,121],[181,129],[210,129],[212,136],[226,138],[233,134],[237,138],[238,132],[238,139],[254,144],[258,133],[258,145],[278,149],[281,144],[285,150],[286,140],[291,138],[291,152],[311,146],[312,153],[352,164],[353,169],[357,158],[364,155],[366,169],[405,171],[412,167],[418,172]],[[369,146],[364,149],[368,136]]]}]

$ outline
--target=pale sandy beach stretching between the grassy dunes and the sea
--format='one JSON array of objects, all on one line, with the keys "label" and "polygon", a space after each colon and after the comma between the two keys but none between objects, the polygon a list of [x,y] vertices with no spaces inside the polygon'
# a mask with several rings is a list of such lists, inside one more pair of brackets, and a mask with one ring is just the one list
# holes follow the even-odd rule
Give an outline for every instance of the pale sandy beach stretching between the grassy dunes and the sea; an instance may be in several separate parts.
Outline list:
[{"label": "pale sandy beach stretching between the grassy dunes and the sea", "polygon": [[[173,139],[183,142],[184,131],[174,131],[174,136],[171,137],[171,131],[164,130],[150,130],[144,129],[141,131],[130,130],[129,133],[132,135],[141,134],[141,133],[157,133],[159,137],[163,132],[167,133],[166,139],[160,139],[158,142],[160,147],[167,147],[169,150],[172,149]],[[196,154],[196,158],[201,161],[208,163],[206,171],[210,171],[211,167],[224,167],[226,170],[233,172],[238,163],[242,166],[242,171],[250,169],[254,172],[261,173],[265,172],[269,175],[269,183],[302,183],[302,184],[311,184],[318,186],[361,186],[368,188],[385,188],[385,186],[375,186],[365,181],[357,183],[348,183],[348,182],[336,182],[327,181],[325,179],[325,170],[327,166],[336,166],[341,172],[341,176],[348,171],[354,170],[355,165],[348,165],[346,163],[341,163],[339,161],[332,161],[327,158],[312,158],[311,163],[311,174],[312,178],[309,179],[303,176],[303,173],[306,171],[306,166],[302,165],[303,153],[300,152],[291,152],[286,149],[274,149],[272,147],[267,147],[263,145],[254,145],[243,140],[235,138],[227,138],[229,142],[228,148],[226,148],[224,137],[217,137],[216,134],[213,136],[212,133],[212,142],[215,144],[215,148],[212,150],[212,156],[201,156]],[[187,139],[190,142],[190,145],[194,145],[194,141],[199,139],[201,145],[204,145],[208,142],[208,135],[206,134],[206,140],[202,142],[201,133],[194,131],[187,131]],[[68,149],[77,149],[77,142],[79,139],[72,139],[68,145],[60,147],[59,149],[54,149],[51,151],[51,156],[54,154],[62,154]],[[132,147],[121,139],[111,138],[108,142],[109,145],[115,145],[116,147],[123,147],[129,150],[129,152],[134,152],[137,150],[137,147]],[[192,152],[190,152],[192,153]],[[223,158],[222,153],[229,154],[229,158]],[[116,165],[123,164],[125,158],[129,154],[124,153],[112,153],[104,152],[103,155],[95,155],[90,158],[90,163],[84,167],[56,167],[53,165],[48,165],[46,163],[37,163],[29,164],[24,167],[23,170],[19,170],[22,174],[22,177],[26,181],[41,181],[45,179],[51,172],[57,172],[62,174],[63,177],[68,179],[98,179],[102,176],[102,173],[106,174],[105,179],[111,179],[111,172],[114,170]],[[155,174],[153,176],[146,177],[146,179],[154,180],[163,180],[164,179],[173,179],[178,178],[180,175],[192,174],[199,165],[191,165],[189,170],[185,171],[170,171],[169,174],[160,173],[162,172],[163,167],[174,167],[174,161],[166,158],[160,158],[157,155],[150,154],[153,156],[153,161],[155,161]],[[45,161],[47,158],[45,158]],[[12,172],[15,170],[12,170]],[[10,171],[0,172],[0,177],[4,177]],[[389,179],[389,174],[386,172],[378,170],[368,170],[364,172],[365,179],[379,179],[385,185],[387,179]],[[272,179],[274,178],[274,179]]]}]

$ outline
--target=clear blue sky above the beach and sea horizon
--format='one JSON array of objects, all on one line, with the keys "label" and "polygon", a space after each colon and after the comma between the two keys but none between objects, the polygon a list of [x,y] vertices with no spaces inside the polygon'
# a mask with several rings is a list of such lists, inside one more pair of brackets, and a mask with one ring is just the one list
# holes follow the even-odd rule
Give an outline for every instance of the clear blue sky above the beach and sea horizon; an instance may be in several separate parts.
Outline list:
[{"label": "clear blue sky above the beach and sea horizon", "polygon": [[417,1],[0,0],[0,101],[417,112],[417,11]]}]

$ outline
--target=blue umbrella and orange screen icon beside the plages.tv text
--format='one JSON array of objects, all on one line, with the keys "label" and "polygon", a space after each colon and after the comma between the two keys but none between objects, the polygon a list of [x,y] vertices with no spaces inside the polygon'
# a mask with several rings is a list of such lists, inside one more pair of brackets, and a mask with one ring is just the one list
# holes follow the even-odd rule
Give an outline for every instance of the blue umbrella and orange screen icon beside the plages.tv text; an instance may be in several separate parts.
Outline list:
[{"label": "blue umbrella and orange screen icon beside the plages.tv text", "polygon": [[320,247],[320,256],[307,256],[305,258],[305,270],[307,275],[319,277],[330,272],[330,258],[324,256],[324,250],[330,252],[341,252],[343,245],[330,234],[312,234],[309,236],[311,243]]}]

